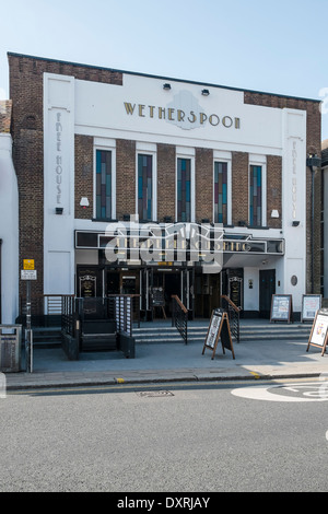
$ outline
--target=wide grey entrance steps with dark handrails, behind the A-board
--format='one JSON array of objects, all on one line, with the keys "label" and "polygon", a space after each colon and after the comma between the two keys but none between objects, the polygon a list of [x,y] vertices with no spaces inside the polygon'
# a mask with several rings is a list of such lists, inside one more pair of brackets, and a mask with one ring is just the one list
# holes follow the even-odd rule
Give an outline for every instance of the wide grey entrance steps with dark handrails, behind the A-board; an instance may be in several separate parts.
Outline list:
[{"label": "wide grey entrance steps with dark handrails, behind the A-board", "polygon": [[[207,336],[210,320],[188,322],[188,342],[203,342]],[[312,324],[300,322],[270,323],[268,319],[241,319],[239,342],[254,340],[300,340],[308,341]],[[184,342],[171,320],[149,322],[140,324],[140,328],[133,328],[136,343],[150,344],[163,342]]]}]

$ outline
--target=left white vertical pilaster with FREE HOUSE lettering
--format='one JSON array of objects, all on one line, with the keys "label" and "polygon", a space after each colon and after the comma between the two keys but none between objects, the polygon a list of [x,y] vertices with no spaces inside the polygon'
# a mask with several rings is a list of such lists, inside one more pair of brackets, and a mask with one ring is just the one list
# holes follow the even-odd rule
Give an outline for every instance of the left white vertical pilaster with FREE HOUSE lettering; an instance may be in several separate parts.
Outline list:
[{"label": "left white vertical pilaster with FREE HOUSE lettering", "polygon": [[45,294],[71,293],[73,288],[74,81],[44,73]]}]

